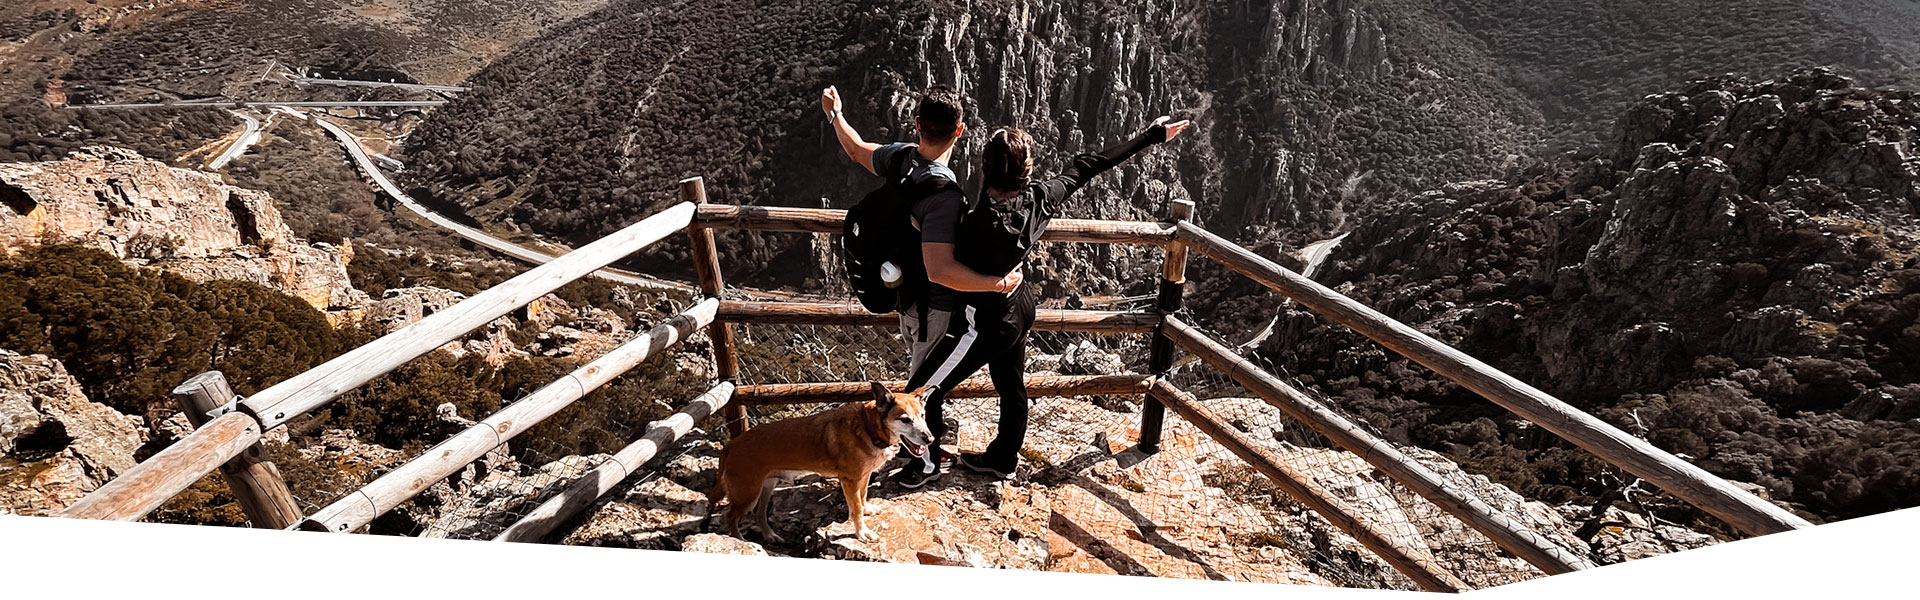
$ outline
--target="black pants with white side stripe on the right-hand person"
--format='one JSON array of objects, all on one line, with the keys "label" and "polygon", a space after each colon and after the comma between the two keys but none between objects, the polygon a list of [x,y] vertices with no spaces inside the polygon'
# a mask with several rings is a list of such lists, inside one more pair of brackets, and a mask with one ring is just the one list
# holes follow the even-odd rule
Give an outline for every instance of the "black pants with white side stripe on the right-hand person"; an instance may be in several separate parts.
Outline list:
[{"label": "black pants with white side stripe on the right-hand person", "polygon": [[927,429],[933,438],[947,435],[947,392],[987,367],[993,390],[1000,394],[1000,431],[987,444],[985,463],[1012,471],[1020,446],[1027,440],[1027,331],[1033,329],[1033,290],[1025,285],[1004,294],[966,294],[952,313],[947,333],[908,377],[906,388],[935,385],[927,398]]}]

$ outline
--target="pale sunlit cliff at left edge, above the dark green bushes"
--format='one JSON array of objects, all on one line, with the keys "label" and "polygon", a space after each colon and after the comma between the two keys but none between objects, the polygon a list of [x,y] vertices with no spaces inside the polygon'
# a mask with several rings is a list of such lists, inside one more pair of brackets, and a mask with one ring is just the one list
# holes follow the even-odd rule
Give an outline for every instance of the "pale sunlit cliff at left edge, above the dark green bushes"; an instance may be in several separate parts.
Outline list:
[{"label": "pale sunlit cliff at left edge, above the dark green bushes", "polygon": [[127,150],[0,163],[0,252],[67,240],[194,281],[238,279],[298,296],[336,323],[367,296],[348,279],[353,248],[305,244],[265,192],[223,185]]}]

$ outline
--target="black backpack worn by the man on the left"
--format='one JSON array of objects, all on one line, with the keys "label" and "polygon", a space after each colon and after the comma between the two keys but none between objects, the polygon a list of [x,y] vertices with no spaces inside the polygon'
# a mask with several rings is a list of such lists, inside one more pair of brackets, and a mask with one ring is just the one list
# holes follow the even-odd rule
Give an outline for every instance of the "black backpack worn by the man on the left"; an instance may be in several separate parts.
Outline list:
[{"label": "black backpack worn by the man on the left", "polygon": [[[920,229],[914,229],[912,210],[922,198],[960,187],[947,177],[910,181],[906,160],[914,148],[893,154],[885,169],[887,183],[847,210],[841,229],[841,263],[847,265],[847,285],[872,313],[889,313],[902,306],[925,308],[927,265],[920,260]],[[883,277],[885,265],[895,265],[899,277]],[[887,273],[893,275],[893,273]]]}]

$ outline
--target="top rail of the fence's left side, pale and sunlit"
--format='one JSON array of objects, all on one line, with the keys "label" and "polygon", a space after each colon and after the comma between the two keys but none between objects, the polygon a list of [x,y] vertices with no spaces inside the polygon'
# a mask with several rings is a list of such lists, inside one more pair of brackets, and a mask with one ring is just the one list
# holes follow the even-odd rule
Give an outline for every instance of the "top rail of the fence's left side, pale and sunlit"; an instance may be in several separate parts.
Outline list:
[{"label": "top rail of the fence's left side, pale and sunlit", "polygon": [[311,371],[294,375],[242,402],[242,410],[273,429],[286,419],[326,406],[336,396],[472,333],[501,315],[588,277],[628,254],[676,235],[693,221],[693,204],[678,204],[597,242],[520,273],[472,298],[428,315],[401,331],[353,348]]}]

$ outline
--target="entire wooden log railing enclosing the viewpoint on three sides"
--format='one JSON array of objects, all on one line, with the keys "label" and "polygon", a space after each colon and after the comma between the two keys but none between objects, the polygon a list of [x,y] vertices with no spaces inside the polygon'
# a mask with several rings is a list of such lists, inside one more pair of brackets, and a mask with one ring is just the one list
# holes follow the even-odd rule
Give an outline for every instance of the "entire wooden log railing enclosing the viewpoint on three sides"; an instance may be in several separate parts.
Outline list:
[{"label": "entire wooden log railing enclosing the viewpoint on three sides", "polygon": [[[236,398],[230,406],[221,406],[230,396],[223,385],[209,387],[207,381],[182,385],[182,408],[209,415],[192,435],[175,442],[167,450],[138,463],[121,477],[94,490],[61,515],[84,519],[138,519],[156,510],[167,498],[179,494],[196,479],[221,469],[238,475],[228,477],[242,508],[255,525],[284,527],[298,510],[288,515],[290,502],[284,496],[284,483],[265,477],[271,463],[261,467],[257,448],[261,431],[278,427],[288,419],[326,406],[336,396],[351,390],[374,377],[380,377],[401,363],[415,360],[434,348],[457,340],[470,331],[553,292],[555,288],[586,277],[601,267],[618,262],[649,244],[655,244],[676,231],[689,235],[695,271],[701,292],[707,296],[684,313],[660,323],[649,335],[622,344],[620,348],[593,360],[578,371],[563,377],[541,390],[509,404],[501,412],[486,417],[467,431],[430,448],[426,454],[399,465],[374,479],[361,490],[340,498],[311,517],[300,519],[300,529],[311,531],[355,531],[371,523],[380,513],[407,502],[426,487],[457,473],[488,450],[499,448],[518,433],[532,429],[541,419],[557,413],[584,394],[620,377],[639,362],[687,338],[693,333],[707,333],[714,346],[718,383],[712,390],[693,398],[668,419],[655,421],[630,446],[603,462],[588,475],[572,481],[545,504],[522,517],[497,537],[497,540],[541,540],[561,523],[591,506],[595,498],[612,490],[628,475],[639,473],[662,448],[685,435],[695,423],[720,412],[735,435],[745,429],[745,406],[764,404],[808,404],[808,402],[852,402],[868,390],[868,383],[803,383],[803,385],[735,385],[739,373],[737,348],[733,348],[732,323],[756,325],[839,325],[839,327],[897,327],[895,315],[876,315],[854,304],[803,304],[803,302],[739,302],[726,300],[726,285],[720,277],[718,252],[710,229],[751,229],[776,233],[839,233],[845,212],[808,208],[758,208],[758,206],[720,206],[708,204],[699,179],[682,183],[685,202],[626,227],[607,238],[574,250],[551,263],[540,265],[520,277],[488,288],[449,310],[434,313],[401,331],[386,335],[367,346],[355,348],[307,373],[261,390],[253,398]],[[1046,240],[1056,242],[1100,242],[1100,244],[1146,244],[1165,250],[1160,292],[1152,312],[1092,312],[1092,310],[1043,310],[1035,329],[1043,331],[1083,331],[1104,335],[1152,335],[1152,352],[1146,375],[1100,375],[1100,377],[1027,377],[1029,396],[1094,396],[1094,394],[1142,394],[1146,404],[1140,415],[1142,452],[1156,452],[1164,427],[1164,412],[1173,410],[1185,421],[1217,440],[1248,462],[1256,471],[1269,477],[1288,496],[1323,513],[1331,523],[1352,535],[1371,552],[1405,573],[1428,590],[1461,590],[1465,585],[1444,567],[1423,546],[1409,546],[1386,535],[1380,523],[1352,510],[1338,496],[1321,488],[1306,473],[1286,465],[1244,433],[1227,425],[1217,415],[1192,400],[1171,383],[1158,379],[1175,363],[1175,352],[1185,348],[1204,363],[1223,371],[1250,392],[1283,410],[1288,417],[1306,423],[1325,435],[1336,446],[1367,460],[1380,473],[1407,487],[1415,494],[1430,500],[1444,512],[1459,517],[1465,525],[1486,535],[1500,548],[1513,552],[1546,573],[1567,573],[1592,567],[1580,552],[1530,531],[1503,513],[1490,508],[1482,498],[1471,496],[1455,487],[1448,487],[1440,475],[1407,458],[1394,444],[1369,435],[1365,429],[1342,417],[1338,412],[1319,404],[1306,392],[1288,387],[1279,377],[1260,369],[1240,358],[1219,340],[1173,317],[1181,308],[1188,250],[1215,260],[1229,269],[1252,277],[1281,296],[1292,298],[1300,306],[1321,313],[1336,323],[1400,352],[1463,387],[1480,392],[1521,417],[1540,423],[1544,429],[1594,452],[1596,456],[1620,465],[1622,469],[1651,481],[1678,498],[1684,498],[1734,527],[1766,535],[1788,529],[1811,527],[1805,519],[1793,517],[1786,510],[1747,494],[1732,483],[1718,479],[1672,454],[1653,448],[1645,440],[1634,438],[1594,415],[1578,412],[1538,388],[1453,350],[1425,333],[1388,319],[1379,312],[1321,287],[1298,273],[1275,265],[1258,254],[1227,242],[1187,219],[1192,204],[1173,202],[1167,219],[1162,223],[1139,221],[1091,221],[1058,219],[1046,233]],[[904,383],[887,383],[893,388]],[[950,390],[950,396],[991,396],[993,385],[985,379],[970,379]],[[213,408],[209,408],[213,406]],[[200,419],[196,419],[198,423]],[[253,475],[248,475],[253,473]],[[275,488],[278,487],[278,488]]]}]

